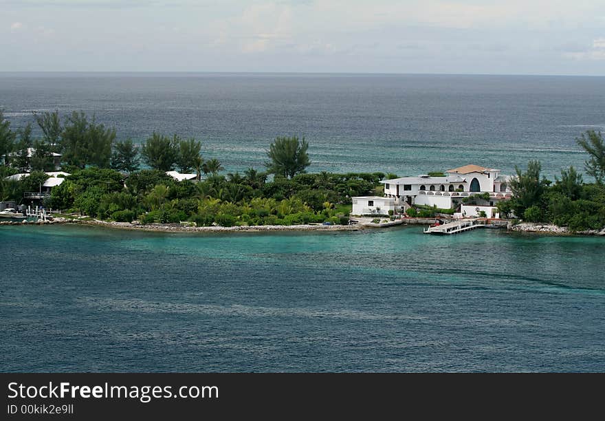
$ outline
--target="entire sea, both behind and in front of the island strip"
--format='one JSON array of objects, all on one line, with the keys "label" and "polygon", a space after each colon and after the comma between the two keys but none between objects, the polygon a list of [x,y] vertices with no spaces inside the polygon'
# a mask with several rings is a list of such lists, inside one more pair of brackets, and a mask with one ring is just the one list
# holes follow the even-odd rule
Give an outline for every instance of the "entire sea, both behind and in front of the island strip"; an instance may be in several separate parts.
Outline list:
[{"label": "entire sea, both behind and in front of the island strip", "polygon": [[[121,138],[203,141],[261,169],[583,169],[605,78],[0,74],[14,126],[82,109]],[[0,228],[0,371],[605,371],[605,239],[403,227],[162,234]]]}]

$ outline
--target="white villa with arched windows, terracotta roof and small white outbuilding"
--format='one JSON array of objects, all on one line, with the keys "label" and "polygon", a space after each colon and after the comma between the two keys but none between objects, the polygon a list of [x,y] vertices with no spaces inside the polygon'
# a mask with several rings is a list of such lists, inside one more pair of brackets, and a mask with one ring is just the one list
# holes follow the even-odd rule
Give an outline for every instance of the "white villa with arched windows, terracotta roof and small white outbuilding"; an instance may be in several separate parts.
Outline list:
[{"label": "white villa with arched windows, terracotta roof and small white outbuilding", "polygon": [[[442,209],[456,208],[465,197],[476,193],[488,193],[485,206],[479,206],[488,217],[495,217],[495,205],[500,200],[510,199],[511,177],[500,175],[500,170],[478,165],[465,165],[450,169],[443,177],[419,175],[418,177],[399,177],[383,180],[384,197],[352,197],[353,215],[386,215],[388,210],[406,210],[413,204],[437,206]],[[377,208],[380,208],[377,210]],[[465,215],[474,216],[465,206]],[[478,212],[478,210],[477,210]]]}]

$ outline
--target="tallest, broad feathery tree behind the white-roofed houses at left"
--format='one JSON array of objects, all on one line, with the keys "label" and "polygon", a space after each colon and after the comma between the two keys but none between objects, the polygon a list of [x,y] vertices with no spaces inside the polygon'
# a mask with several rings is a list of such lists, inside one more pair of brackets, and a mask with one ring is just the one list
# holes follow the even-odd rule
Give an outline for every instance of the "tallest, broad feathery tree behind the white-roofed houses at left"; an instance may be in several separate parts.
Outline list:
[{"label": "tallest, broad feathery tree behind the white-roofed houses at left", "polygon": [[74,111],[67,116],[61,137],[63,159],[80,169],[87,165],[108,168],[114,139],[115,129],[96,124],[94,116],[89,122],[82,111]]}]

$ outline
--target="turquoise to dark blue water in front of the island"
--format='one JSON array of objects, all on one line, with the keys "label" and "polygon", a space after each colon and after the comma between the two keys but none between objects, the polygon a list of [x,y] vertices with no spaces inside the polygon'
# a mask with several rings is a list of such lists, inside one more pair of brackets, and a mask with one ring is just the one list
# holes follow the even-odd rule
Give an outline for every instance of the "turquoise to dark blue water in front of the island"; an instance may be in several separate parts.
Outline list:
[{"label": "turquoise to dark blue water in front of the island", "polygon": [[1,371],[605,371],[605,241],[2,227]]}]

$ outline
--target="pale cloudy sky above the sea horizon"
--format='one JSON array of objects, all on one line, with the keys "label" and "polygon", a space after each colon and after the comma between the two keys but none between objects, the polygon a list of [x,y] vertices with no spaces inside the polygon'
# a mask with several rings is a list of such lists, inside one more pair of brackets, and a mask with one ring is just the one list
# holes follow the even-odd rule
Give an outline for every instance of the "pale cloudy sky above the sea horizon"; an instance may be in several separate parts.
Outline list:
[{"label": "pale cloudy sky above the sea horizon", "polygon": [[0,72],[605,76],[604,0],[0,0]]}]

